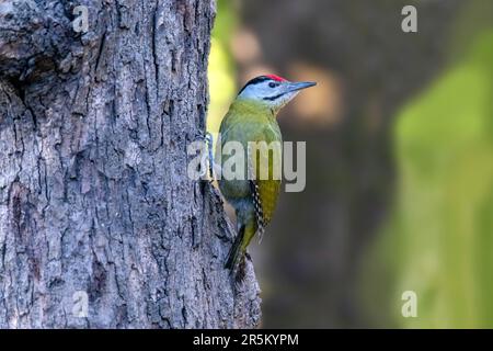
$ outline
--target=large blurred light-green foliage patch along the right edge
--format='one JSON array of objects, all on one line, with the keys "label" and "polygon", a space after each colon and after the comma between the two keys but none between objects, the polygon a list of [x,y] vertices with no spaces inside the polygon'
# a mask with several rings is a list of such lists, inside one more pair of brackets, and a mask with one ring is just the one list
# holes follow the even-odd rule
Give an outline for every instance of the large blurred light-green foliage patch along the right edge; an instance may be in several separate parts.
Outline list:
[{"label": "large blurred light-green foliage patch along the right edge", "polygon": [[[393,281],[374,292],[397,326],[493,327],[492,63],[493,32],[397,118],[397,203],[376,251]],[[408,290],[417,318],[401,316]]]}]

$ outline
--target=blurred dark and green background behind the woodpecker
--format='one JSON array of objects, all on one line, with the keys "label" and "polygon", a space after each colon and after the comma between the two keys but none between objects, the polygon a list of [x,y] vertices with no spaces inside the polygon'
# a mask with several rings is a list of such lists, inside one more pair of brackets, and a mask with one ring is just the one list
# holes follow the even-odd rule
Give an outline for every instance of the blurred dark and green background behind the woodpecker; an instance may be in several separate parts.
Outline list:
[{"label": "blurred dark and green background behind the woodpecker", "polygon": [[262,326],[493,328],[493,0],[218,0],[209,131],[267,72],[319,84],[279,115],[307,188],[251,246]]}]

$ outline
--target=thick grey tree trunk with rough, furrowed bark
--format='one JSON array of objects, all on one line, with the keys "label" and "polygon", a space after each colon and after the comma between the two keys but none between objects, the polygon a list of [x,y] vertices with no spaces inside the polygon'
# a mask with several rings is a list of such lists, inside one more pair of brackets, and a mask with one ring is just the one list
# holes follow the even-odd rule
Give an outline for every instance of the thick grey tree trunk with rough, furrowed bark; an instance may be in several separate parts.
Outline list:
[{"label": "thick grey tree trunk with rough, furrowed bark", "polygon": [[252,265],[241,286],[222,268],[221,201],[186,172],[214,15],[211,0],[0,3],[1,328],[259,324]]}]

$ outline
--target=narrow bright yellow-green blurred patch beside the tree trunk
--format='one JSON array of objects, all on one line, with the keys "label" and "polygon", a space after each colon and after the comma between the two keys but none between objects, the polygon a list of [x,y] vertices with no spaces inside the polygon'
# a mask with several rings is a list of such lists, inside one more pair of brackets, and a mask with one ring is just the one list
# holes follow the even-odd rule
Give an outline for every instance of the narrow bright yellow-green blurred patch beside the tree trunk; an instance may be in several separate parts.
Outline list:
[{"label": "narrow bright yellow-green blurred patch beside the tree trunk", "polygon": [[210,104],[207,131],[218,132],[222,116],[237,90],[236,67],[230,53],[230,41],[237,26],[234,1],[217,0],[217,16],[214,24],[209,56]]}]

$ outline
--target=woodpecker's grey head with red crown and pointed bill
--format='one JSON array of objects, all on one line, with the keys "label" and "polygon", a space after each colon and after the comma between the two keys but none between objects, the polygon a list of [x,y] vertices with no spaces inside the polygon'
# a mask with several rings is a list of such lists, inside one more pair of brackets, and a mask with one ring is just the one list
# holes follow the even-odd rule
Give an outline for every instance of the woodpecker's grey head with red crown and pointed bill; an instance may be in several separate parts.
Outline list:
[{"label": "woodpecker's grey head with red crown and pointed bill", "polygon": [[300,90],[316,86],[316,82],[291,82],[274,75],[250,80],[238,93],[237,99],[252,100],[273,111],[278,111],[291,101]]}]

